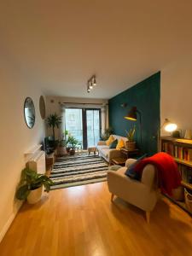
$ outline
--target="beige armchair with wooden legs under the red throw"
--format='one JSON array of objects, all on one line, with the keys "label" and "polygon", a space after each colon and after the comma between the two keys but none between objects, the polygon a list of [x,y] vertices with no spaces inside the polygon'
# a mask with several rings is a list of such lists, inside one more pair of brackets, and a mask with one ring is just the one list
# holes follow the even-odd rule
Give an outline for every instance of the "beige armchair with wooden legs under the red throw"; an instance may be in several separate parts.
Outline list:
[{"label": "beige armchair with wooden legs under the red throw", "polygon": [[127,177],[125,171],[128,166],[136,160],[126,160],[125,167],[118,171],[108,171],[108,189],[113,196],[117,195],[132,205],[141,208],[146,212],[147,222],[149,222],[150,212],[153,211],[158,199],[158,187],[155,178],[155,168],[153,165],[147,165],[143,169],[141,181]]}]

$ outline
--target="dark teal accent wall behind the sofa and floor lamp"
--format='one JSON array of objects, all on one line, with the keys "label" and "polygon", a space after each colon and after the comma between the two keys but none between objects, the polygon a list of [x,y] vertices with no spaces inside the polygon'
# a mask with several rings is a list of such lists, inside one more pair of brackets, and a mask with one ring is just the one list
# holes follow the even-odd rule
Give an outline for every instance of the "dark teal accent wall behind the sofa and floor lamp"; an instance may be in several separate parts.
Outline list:
[{"label": "dark teal accent wall behind the sofa and floor lamp", "polygon": [[[126,108],[121,104],[127,103]],[[124,119],[129,109],[136,106],[142,114],[143,143],[140,142],[139,121]],[[157,152],[157,139],[154,136],[160,127],[160,72],[113,96],[108,102],[109,125],[114,134],[125,137],[125,130],[137,126],[136,142],[142,153]]]}]

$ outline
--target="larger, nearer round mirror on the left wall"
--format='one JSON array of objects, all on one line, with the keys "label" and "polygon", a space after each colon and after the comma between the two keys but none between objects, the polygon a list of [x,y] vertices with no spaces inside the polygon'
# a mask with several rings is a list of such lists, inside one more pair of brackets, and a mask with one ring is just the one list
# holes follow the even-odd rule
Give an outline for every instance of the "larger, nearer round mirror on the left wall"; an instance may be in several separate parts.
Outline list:
[{"label": "larger, nearer round mirror on the left wall", "polygon": [[24,116],[26,125],[32,129],[35,125],[35,107],[30,97],[27,97],[24,103]]}]

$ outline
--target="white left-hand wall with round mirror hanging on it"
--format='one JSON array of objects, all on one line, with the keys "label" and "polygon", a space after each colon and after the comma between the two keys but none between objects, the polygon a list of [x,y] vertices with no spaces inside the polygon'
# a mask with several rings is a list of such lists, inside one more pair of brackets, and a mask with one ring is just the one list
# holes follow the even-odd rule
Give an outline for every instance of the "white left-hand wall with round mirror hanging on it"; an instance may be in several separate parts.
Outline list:
[{"label": "white left-hand wall with round mirror hanging on it", "polygon": [[[9,227],[20,201],[15,200],[15,188],[25,166],[24,153],[44,138],[44,121],[40,117],[38,101],[41,90],[35,90],[30,80],[21,74],[20,67],[7,56],[0,58],[0,241]],[[32,97],[36,108],[36,123],[27,128],[23,104]]]}]

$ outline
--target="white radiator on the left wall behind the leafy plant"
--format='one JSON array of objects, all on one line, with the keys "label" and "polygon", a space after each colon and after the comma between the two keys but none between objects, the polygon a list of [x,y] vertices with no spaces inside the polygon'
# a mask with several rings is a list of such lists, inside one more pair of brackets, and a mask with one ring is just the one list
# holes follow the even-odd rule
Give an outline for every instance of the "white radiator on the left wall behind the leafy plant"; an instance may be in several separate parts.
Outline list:
[{"label": "white radiator on the left wall behind the leafy plant", "polygon": [[32,158],[27,162],[27,166],[35,172],[44,174],[46,172],[44,151],[38,151],[33,154]]}]

